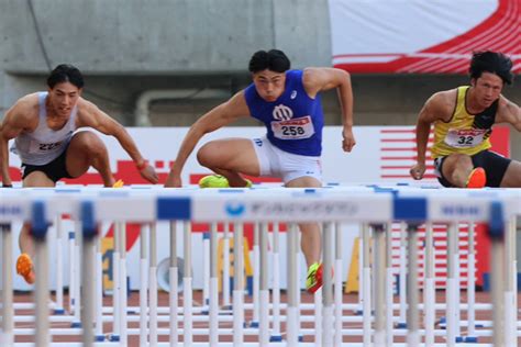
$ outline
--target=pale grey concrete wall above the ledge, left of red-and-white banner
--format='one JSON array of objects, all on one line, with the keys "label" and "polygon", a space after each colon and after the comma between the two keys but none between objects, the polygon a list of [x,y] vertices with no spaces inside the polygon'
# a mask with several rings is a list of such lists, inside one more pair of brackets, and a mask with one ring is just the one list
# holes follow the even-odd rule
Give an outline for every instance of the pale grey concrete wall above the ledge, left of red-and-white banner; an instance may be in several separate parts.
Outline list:
[{"label": "pale grey concrete wall above the ledge, left of red-and-white banner", "polygon": [[213,74],[242,71],[253,52],[275,46],[298,66],[328,64],[326,3],[2,0],[2,64],[13,74],[46,72],[62,61],[87,74]]}]

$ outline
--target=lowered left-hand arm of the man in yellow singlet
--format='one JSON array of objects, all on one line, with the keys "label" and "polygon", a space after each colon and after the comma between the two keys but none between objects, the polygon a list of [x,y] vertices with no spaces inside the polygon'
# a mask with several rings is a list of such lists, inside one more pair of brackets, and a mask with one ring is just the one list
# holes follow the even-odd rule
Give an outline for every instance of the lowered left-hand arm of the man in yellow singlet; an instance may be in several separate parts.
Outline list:
[{"label": "lowered left-hand arm of the man in yellow singlet", "polygon": [[425,102],[417,122],[417,164],[410,169],[413,179],[422,179],[425,174],[425,153],[431,124],[443,117],[444,96],[435,93]]}]

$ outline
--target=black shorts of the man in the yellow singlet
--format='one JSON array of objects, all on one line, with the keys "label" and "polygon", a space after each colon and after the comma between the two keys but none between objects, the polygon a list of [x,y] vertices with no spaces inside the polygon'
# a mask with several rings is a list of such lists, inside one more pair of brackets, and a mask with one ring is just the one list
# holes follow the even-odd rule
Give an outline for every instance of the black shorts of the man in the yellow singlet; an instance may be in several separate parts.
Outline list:
[{"label": "black shorts of the man in the yellow singlet", "polygon": [[[440,157],[434,159],[434,166],[440,172],[437,180],[443,187],[454,187],[445,177],[443,177],[443,161],[446,157]],[[506,158],[491,150],[481,150],[474,156],[470,156],[473,159],[473,165],[475,168],[481,167],[487,174],[487,187],[498,188],[501,184],[505,172],[507,171],[510,161],[509,158]]]}]

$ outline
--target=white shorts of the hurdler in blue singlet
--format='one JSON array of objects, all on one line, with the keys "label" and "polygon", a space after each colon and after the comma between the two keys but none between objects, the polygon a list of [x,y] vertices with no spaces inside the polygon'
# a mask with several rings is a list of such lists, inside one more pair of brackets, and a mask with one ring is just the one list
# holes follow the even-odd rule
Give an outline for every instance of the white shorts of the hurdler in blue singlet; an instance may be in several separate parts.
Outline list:
[{"label": "white shorts of the hurdler in blue singlet", "polygon": [[260,176],[281,178],[285,184],[300,177],[313,177],[322,182],[320,157],[284,152],[271,145],[266,137],[252,138],[252,144],[257,154]]}]

